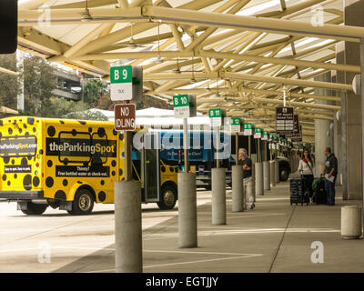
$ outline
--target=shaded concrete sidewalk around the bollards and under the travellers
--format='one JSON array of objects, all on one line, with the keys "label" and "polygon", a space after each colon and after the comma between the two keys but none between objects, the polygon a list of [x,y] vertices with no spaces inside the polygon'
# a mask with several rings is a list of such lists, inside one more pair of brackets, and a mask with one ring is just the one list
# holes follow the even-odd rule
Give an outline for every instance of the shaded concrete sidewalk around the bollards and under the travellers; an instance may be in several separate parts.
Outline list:
[{"label": "shaded concrete sidewalk around the bollards and under the travellers", "polygon": [[[145,230],[144,272],[363,272],[364,241],[340,237],[340,207],[361,202],[340,195],[336,206],[290,206],[288,183],[279,183],[254,210],[232,213],[227,190],[227,226],[211,225],[210,203],[198,207],[197,248],[177,247],[177,216]],[[311,262],[315,241],[323,264]],[[114,256],[107,246],[56,272],[114,272]]]}]

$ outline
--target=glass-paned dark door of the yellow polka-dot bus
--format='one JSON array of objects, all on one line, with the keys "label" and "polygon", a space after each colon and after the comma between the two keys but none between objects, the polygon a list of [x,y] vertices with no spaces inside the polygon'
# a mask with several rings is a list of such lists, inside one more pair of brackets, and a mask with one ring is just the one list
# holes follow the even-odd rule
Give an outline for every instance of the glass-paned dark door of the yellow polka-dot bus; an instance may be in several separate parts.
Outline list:
[{"label": "glass-paned dark door of the yellow polka-dot bus", "polygon": [[147,133],[142,155],[146,202],[158,202],[160,196],[160,133]]}]

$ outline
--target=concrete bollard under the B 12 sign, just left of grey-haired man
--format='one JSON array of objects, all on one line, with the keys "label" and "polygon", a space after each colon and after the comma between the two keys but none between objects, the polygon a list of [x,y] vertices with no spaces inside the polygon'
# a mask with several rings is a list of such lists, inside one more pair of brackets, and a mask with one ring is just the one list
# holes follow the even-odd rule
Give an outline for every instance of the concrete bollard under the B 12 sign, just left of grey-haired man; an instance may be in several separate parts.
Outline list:
[{"label": "concrete bollard under the B 12 sign, just left of grey-haired man", "polygon": [[244,182],[243,182],[243,167],[231,166],[232,176],[232,211],[244,211]]}]

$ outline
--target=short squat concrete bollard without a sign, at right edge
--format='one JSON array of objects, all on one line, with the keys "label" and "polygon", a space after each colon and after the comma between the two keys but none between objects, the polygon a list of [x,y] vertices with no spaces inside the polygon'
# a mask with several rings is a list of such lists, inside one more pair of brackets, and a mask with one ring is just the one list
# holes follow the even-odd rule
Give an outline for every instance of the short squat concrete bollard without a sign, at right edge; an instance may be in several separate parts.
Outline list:
[{"label": "short squat concrete bollard without a sign, at right edge", "polygon": [[361,207],[341,207],[341,237],[357,239],[361,236]]}]

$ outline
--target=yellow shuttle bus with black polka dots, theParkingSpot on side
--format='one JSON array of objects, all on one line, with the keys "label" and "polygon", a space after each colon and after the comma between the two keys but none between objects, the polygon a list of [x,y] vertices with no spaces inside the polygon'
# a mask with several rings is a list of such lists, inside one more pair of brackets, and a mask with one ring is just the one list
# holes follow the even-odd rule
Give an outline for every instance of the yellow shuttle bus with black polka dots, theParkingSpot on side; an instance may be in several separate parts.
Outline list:
[{"label": "yellow shuttle bus with black polka dots, theParkingSpot on side", "polygon": [[[140,128],[136,132],[142,143],[160,140]],[[114,203],[114,182],[124,178],[123,149],[124,135],[111,122],[0,119],[0,198],[16,201],[26,215],[41,215],[48,206],[89,214],[94,203]],[[157,146],[133,147],[132,166],[144,203],[160,209],[176,205],[179,169],[160,160]]]}]

